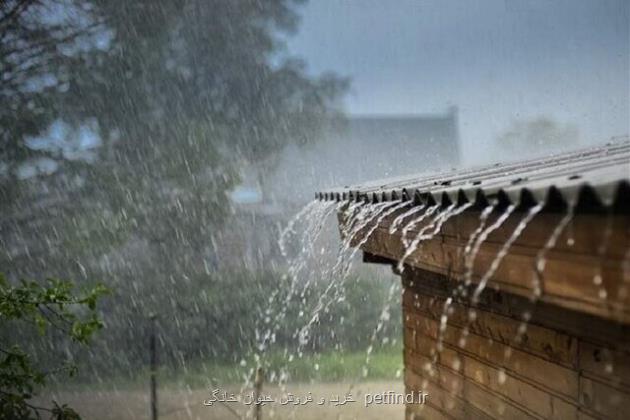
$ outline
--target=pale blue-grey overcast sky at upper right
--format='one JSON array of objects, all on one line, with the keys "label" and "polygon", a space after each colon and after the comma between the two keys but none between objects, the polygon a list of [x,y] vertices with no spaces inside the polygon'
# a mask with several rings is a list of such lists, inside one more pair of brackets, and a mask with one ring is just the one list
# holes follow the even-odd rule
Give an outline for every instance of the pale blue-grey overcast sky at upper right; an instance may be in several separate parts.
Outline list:
[{"label": "pale blue-grey overcast sky at upper right", "polygon": [[455,105],[469,161],[537,117],[577,129],[576,146],[630,131],[627,0],[311,0],[300,13],[288,52],[351,77],[349,114]]}]

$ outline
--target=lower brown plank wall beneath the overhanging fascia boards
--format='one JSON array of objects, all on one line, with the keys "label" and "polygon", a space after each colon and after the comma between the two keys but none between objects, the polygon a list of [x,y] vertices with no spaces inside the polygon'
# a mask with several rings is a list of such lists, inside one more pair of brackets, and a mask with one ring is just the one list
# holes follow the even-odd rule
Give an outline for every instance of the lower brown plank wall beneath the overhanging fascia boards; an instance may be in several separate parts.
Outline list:
[{"label": "lower brown plank wall beneath the overhanging fascia boards", "polygon": [[456,284],[420,268],[403,272],[405,384],[429,394],[427,404],[407,406],[408,419],[630,418],[630,327],[487,290],[474,321],[468,301],[455,301],[440,333]]}]

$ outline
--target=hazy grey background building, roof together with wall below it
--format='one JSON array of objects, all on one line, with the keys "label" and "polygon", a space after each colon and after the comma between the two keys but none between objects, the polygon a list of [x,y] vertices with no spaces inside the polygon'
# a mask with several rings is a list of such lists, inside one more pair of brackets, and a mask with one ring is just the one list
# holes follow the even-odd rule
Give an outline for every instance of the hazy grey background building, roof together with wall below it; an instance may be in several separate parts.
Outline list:
[{"label": "hazy grey background building, roof together with wall below it", "polygon": [[284,149],[266,185],[253,173],[242,175],[231,194],[237,223],[219,235],[215,251],[225,255],[216,261],[250,268],[282,264],[274,238],[313,191],[457,166],[457,121],[456,107],[442,114],[351,116],[312,145]]}]

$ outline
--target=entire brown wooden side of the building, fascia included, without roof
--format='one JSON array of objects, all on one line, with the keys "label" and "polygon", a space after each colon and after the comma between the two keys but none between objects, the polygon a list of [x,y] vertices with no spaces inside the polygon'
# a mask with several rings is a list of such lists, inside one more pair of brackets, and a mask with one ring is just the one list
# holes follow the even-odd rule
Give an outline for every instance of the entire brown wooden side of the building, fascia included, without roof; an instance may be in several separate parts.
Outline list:
[{"label": "entire brown wooden side of the building, fascia included, without roof", "polygon": [[[402,229],[390,226],[402,212],[353,235],[366,261],[397,266],[406,248]],[[541,254],[566,216],[541,212],[513,236],[524,217],[514,212],[472,259],[465,249],[482,219],[466,211],[425,235],[405,260],[405,384],[429,394],[427,404],[407,406],[407,418],[630,419],[630,218],[576,214]],[[436,220],[428,217],[408,238],[431,232]],[[456,300],[442,322],[455,286],[471,280],[470,296],[502,251],[475,307],[470,298]],[[546,264],[538,272],[541,255]],[[467,267],[467,258],[474,264]],[[533,303],[536,278],[541,294]]]}]

